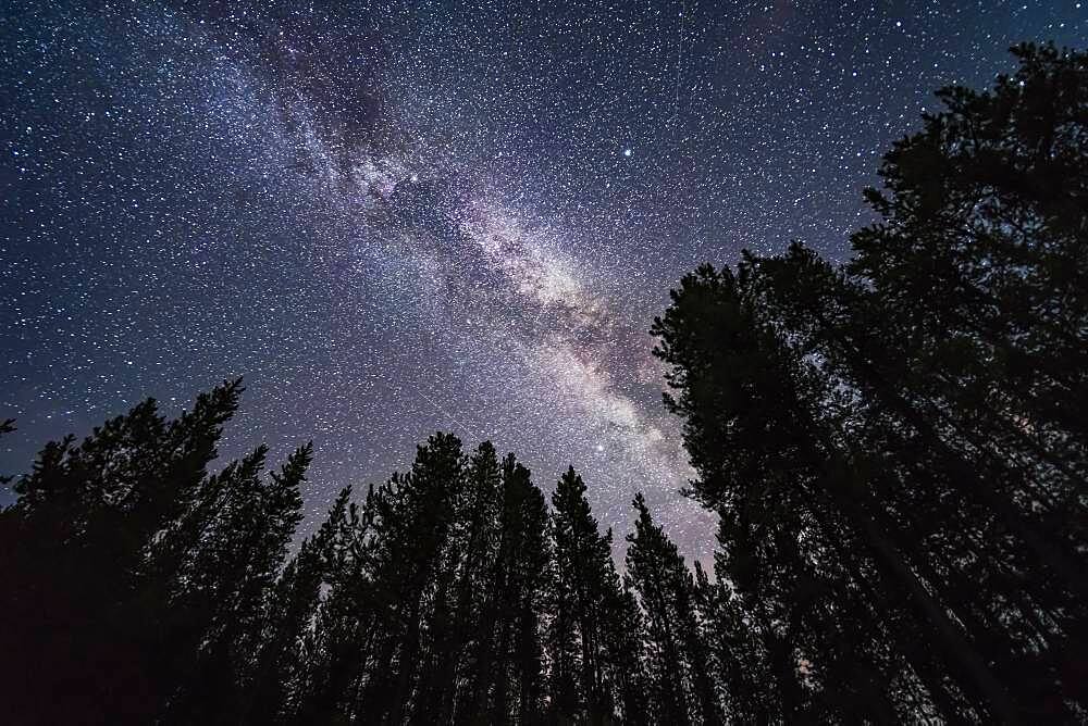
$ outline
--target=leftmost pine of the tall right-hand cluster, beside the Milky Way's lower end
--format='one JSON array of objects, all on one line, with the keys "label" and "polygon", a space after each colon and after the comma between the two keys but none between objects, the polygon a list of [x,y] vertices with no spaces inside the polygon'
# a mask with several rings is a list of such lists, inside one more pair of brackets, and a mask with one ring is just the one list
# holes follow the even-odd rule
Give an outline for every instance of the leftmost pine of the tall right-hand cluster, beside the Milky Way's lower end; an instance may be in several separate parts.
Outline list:
[{"label": "leftmost pine of the tall right-hand cluster, beside the Milky Way's lower end", "polygon": [[[687,417],[685,443],[700,472],[694,490],[721,514],[720,539],[733,549],[732,568],[742,567],[739,580],[766,580],[784,555],[804,556],[799,546],[806,539],[837,536],[820,523],[842,523],[864,548],[881,587],[897,593],[961,687],[1000,717],[1013,717],[1006,688],[919,579],[906,538],[874,502],[868,471],[842,443],[836,390],[787,345],[774,321],[761,318],[762,309],[746,297],[750,276],[746,267],[740,277],[702,267],[683,280],[666,317],[655,323],[662,337],[657,352],[672,364],[669,383],[680,391],[667,402]],[[775,538],[771,533],[790,521],[795,531]],[[806,530],[818,537],[806,537]],[[768,544],[778,552],[761,552]],[[812,568],[816,561],[806,559]],[[790,611],[783,614],[789,635],[796,629],[794,618],[811,616],[818,603],[812,593],[820,578],[802,577],[796,567],[783,575],[788,579],[776,587]],[[782,696],[793,703],[790,693],[796,691],[787,686],[799,655],[780,642],[769,622],[763,629]]]}]

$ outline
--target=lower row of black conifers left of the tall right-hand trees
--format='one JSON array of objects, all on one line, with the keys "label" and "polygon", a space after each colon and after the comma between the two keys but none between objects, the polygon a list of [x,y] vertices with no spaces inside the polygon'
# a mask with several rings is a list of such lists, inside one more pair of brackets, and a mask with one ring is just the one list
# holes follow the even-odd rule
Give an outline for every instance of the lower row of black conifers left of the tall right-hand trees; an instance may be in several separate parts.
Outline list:
[{"label": "lower row of black conifers left of the tall right-hand trees", "polygon": [[512,454],[437,434],[288,556],[311,447],[208,473],[240,392],[147,401],[15,484],[8,723],[718,718],[695,581],[641,496],[621,577],[573,468],[548,508]]}]

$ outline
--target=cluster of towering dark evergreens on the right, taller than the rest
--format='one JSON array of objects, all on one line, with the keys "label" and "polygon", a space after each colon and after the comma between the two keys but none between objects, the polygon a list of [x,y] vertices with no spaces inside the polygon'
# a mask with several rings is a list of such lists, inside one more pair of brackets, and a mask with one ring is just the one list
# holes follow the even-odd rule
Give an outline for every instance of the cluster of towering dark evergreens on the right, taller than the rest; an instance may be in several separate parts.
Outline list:
[{"label": "cluster of towering dark evergreens on the right, taller than the rest", "polygon": [[720,629],[763,631],[778,703],[799,680],[804,710],[874,718],[888,699],[950,719],[1085,708],[1088,61],[1014,52],[1015,76],[941,91],[886,157],[882,221],[848,265],[793,246],[701,268],[655,324],[694,493],[721,516]]}]

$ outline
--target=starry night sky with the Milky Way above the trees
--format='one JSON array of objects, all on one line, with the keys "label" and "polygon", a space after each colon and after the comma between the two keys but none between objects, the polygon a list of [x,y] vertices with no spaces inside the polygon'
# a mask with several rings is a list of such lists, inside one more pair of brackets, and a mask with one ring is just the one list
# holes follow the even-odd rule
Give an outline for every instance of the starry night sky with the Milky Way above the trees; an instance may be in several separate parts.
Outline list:
[{"label": "starry night sky with the Milky Way above the trees", "polygon": [[[437,429],[712,524],[648,328],[679,277],[801,239],[947,84],[1084,47],[1067,0],[5,2],[0,473],[245,376],[224,452],[312,438],[308,525]],[[5,495],[2,501],[11,501]]]}]

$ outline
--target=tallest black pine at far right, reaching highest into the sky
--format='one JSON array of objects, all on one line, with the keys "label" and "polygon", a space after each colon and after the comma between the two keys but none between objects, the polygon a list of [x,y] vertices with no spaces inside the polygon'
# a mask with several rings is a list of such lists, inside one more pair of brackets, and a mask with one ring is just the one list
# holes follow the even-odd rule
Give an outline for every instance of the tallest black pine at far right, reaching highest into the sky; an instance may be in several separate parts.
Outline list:
[{"label": "tallest black pine at far right, reaching highest into the sky", "polygon": [[1014,75],[943,89],[887,154],[885,190],[867,192],[881,223],[853,237],[845,273],[889,342],[864,380],[904,391],[996,523],[968,546],[981,566],[956,573],[978,629],[1034,715],[1062,718],[1063,701],[1088,703],[1070,676],[1088,635],[1088,53],[1013,52]]}]

